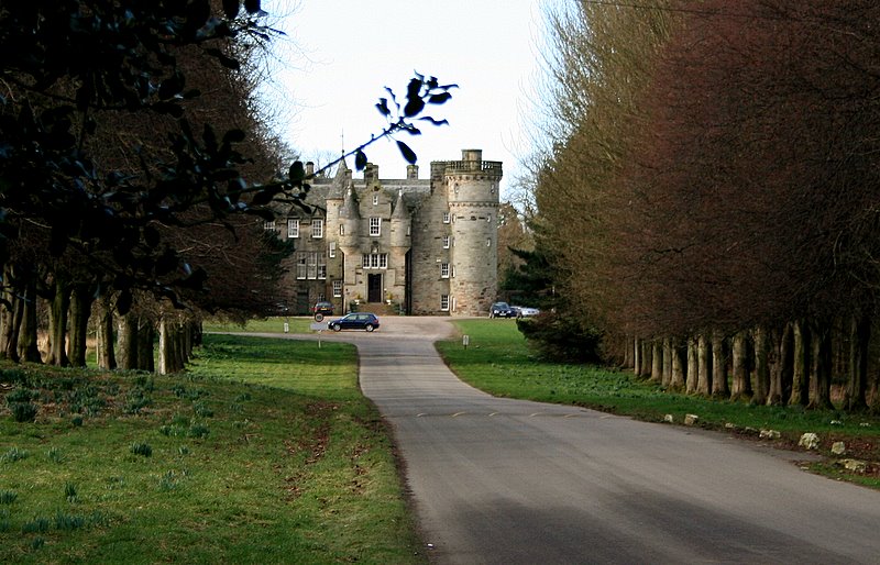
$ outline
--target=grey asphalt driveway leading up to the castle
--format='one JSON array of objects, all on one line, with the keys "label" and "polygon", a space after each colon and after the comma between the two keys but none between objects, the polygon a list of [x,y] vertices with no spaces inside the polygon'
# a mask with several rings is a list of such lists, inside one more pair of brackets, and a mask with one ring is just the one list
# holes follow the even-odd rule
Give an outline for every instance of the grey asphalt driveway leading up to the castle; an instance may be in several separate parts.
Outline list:
[{"label": "grey asphalt driveway leading up to the castle", "polygon": [[450,331],[324,334],[359,347],[433,563],[880,563],[880,492],[726,434],[493,398],[441,362]]}]

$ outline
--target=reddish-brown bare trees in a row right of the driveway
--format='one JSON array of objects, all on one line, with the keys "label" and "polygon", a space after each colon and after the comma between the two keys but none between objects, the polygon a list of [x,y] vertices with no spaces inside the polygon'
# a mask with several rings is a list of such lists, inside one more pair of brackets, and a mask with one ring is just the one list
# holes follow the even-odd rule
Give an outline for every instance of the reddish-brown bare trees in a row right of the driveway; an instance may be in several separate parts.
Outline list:
[{"label": "reddish-brown bare trees in a row right of the driveway", "polygon": [[828,408],[839,383],[844,408],[880,406],[878,16],[861,0],[550,14],[537,233],[578,297],[562,315],[602,326],[607,357],[704,395]]}]

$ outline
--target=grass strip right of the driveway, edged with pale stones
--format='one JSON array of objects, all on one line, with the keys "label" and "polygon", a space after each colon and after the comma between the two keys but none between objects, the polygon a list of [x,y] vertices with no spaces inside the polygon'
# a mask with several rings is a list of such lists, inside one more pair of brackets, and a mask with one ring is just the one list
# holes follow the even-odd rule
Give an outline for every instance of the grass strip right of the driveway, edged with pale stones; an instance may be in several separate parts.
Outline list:
[{"label": "grass strip right of the driveway, edged with pale stones", "polygon": [[[686,414],[700,417],[698,425],[727,430],[746,437],[760,437],[761,430],[780,432],[780,444],[796,447],[805,432],[820,436],[820,453],[829,457],[814,469],[835,477],[880,488],[880,418],[801,407],[767,407],[715,401],[666,391],[654,383],[628,372],[588,365],[566,365],[538,359],[513,320],[464,320],[455,322],[470,336],[438,343],[444,359],[466,383],[495,396],[543,402],[578,405],[607,412],[662,422],[667,414],[681,423]],[[831,457],[835,442],[847,453]],[[846,458],[865,459],[864,473],[842,468]]]}]

